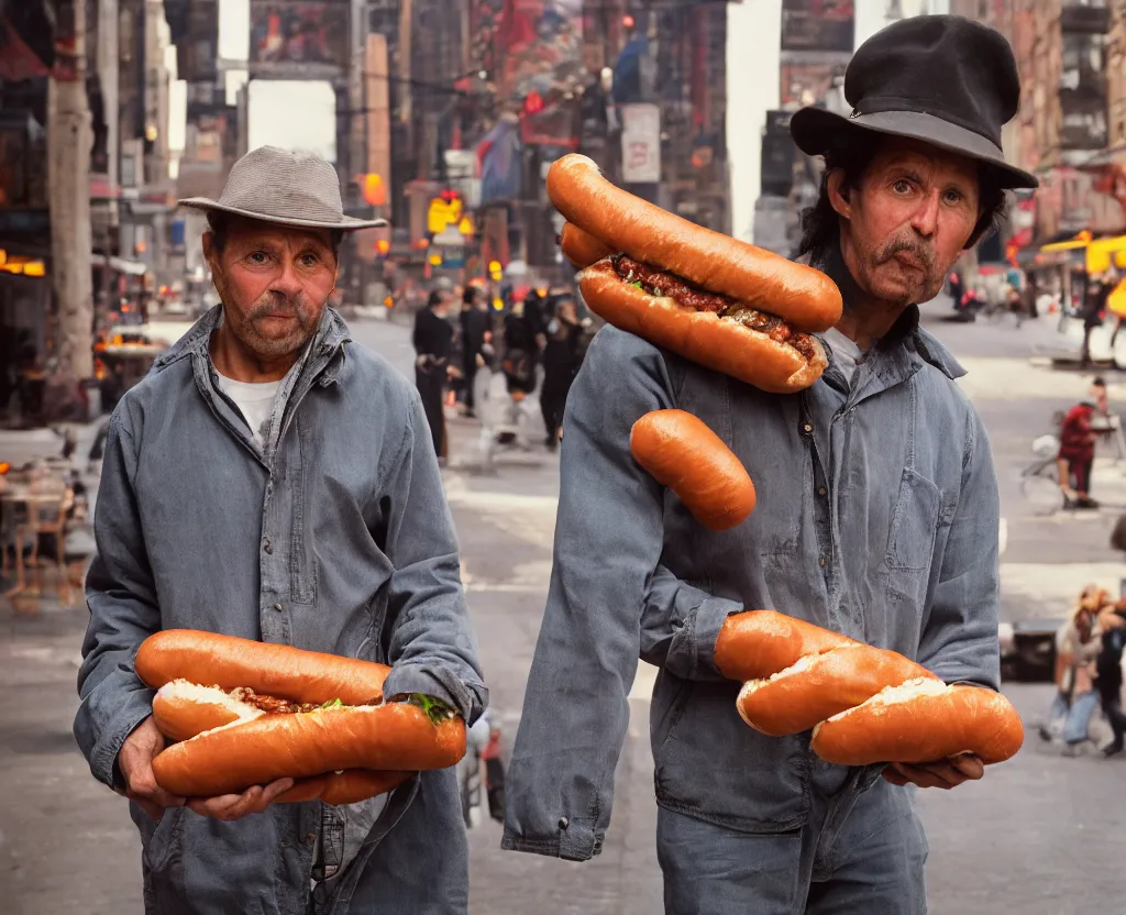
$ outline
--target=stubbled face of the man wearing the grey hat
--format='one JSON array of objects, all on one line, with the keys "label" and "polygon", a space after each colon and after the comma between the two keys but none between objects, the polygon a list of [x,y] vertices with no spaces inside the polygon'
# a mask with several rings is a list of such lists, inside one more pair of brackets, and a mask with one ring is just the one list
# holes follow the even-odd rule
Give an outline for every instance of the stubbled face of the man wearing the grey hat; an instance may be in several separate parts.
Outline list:
[{"label": "stubbled face of the man wearing the grey hat", "polygon": [[336,285],[337,259],[328,230],[235,219],[204,257],[234,336],[263,361],[298,352],[316,330]]}]

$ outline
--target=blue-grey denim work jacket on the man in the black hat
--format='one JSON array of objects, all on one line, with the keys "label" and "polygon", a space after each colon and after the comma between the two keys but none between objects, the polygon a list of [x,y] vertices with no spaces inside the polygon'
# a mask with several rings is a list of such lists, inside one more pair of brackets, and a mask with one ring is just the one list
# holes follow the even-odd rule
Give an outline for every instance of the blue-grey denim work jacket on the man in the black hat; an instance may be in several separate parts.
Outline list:
[{"label": "blue-grey denim work jacket on the man in the black hat", "polygon": [[[658,802],[753,833],[805,825],[811,791],[858,793],[878,769],[829,766],[810,735],[766,737],[714,664],[724,620],[793,616],[999,686],[999,499],[964,374],[909,309],[858,366],[763,393],[615,328],[571,390],[554,568],[507,781],[503,847],[586,860],[610,820],[637,658],[660,670]],[[758,491],[727,532],[694,521],[629,453],[650,410],[700,417]],[[855,800],[855,798],[854,798]]]}]

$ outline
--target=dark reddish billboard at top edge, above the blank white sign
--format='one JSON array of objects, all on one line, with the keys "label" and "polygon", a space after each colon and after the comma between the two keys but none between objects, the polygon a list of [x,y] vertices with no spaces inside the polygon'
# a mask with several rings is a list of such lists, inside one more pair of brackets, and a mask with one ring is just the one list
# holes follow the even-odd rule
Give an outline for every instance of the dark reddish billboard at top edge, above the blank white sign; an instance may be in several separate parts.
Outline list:
[{"label": "dark reddish billboard at top edge, above the blank white sign", "polygon": [[347,0],[251,0],[250,75],[332,78],[348,69]]}]

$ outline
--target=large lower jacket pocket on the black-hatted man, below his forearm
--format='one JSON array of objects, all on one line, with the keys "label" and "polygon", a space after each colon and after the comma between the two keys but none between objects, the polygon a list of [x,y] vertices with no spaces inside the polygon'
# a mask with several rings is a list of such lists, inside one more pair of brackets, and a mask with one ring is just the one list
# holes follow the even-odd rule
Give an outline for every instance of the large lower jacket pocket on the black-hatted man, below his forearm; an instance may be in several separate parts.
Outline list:
[{"label": "large lower jacket pocket on the black-hatted man, below his forearm", "polygon": [[[671,686],[661,683],[656,692]],[[767,737],[744,725],[738,692],[734,683],[694,682],[663,703],[668,712],[654,719],[653,731],[656,799],[742,832],[795,829],[808,814],[807,745],[801,736]],[[654,713],[656,705],[654,696]]]}]

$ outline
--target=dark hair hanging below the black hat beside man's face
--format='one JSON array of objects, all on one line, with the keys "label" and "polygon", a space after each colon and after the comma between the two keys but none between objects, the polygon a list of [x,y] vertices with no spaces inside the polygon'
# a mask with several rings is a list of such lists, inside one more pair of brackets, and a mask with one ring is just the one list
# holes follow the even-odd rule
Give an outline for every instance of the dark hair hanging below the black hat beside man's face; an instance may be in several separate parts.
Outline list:
[{"label": "dark hair hanging below the black hat beside man's face", "polygon": [[[823,250],[840,237],[840,215],[829,199],[829,174],[839,168],[844,172],[846,192],[858,188],[865,171],[879,150],[879,137],[861,131],[849,131],[833,141],[825,152],[825,170],[821,175],[817,202],[802,211],[802,242],[798,257]],[[978,217],[966,248],[973,248],[986,236],[997,231],[1004,215],[1004,189],[997,172],[981,166],[978,177]]]}]

